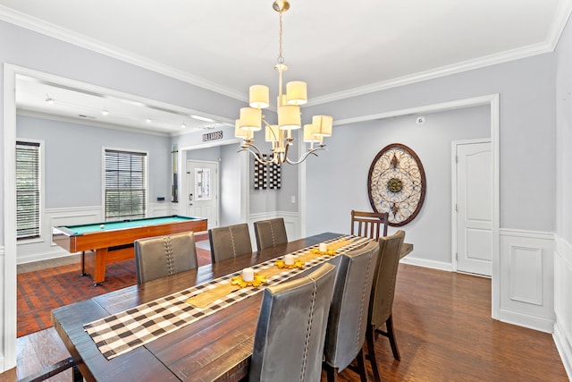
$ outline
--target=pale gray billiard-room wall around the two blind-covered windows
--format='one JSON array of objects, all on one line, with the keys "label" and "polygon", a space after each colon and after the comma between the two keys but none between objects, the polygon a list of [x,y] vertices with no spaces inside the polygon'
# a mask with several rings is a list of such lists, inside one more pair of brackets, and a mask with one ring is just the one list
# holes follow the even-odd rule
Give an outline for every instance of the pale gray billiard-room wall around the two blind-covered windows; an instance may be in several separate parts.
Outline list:
[{"label": "pale gray billiard-room wall around the two blind-covered windows", "polygon": [[16,136],[44,140],[46,208],[101,206],[102,148],[147,151],[149,201],[171,194],[170,139],[18,115]]}]

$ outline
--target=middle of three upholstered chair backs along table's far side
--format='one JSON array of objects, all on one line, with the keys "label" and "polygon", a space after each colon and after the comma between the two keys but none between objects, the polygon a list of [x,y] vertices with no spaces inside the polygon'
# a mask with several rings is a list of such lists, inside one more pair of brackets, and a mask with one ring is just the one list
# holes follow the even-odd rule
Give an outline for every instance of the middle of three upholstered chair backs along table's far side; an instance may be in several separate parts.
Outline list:
[{"label": "middle of three upholstered chair backs along table's far side", "polygon": [[227,225],[208,230],[213,263],[252,253],[248,224]]}]

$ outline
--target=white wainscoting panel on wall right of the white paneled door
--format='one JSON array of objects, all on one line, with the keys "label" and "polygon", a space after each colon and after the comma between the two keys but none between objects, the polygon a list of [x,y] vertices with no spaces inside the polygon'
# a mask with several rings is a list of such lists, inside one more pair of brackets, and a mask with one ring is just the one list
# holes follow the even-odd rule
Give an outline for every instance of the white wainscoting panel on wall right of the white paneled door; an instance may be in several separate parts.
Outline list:
[{"label": "white wainscoting panel on wall right of the white paneled door", "polygon": [[551,333],[554,235],[501,229],[501,321]]}]

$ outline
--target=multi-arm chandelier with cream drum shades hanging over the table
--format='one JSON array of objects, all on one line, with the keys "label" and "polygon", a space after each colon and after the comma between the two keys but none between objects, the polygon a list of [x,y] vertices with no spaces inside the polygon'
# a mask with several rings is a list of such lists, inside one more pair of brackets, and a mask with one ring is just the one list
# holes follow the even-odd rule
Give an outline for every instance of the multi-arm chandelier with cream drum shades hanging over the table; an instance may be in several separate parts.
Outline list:
[{"label": "multi-arm chandelier with cream drum shades hanging over the table", "polygon": [[[252,85],[249,88],[248,107],[240,109],[240,118],[236,120],[234,135],[242,139],[239,151],[248,151],[263,165],[289,163],[298,165],[315,151],[323,150],[324,137],[332,136],[333,118],[330,115],[315,115],[312,123],[304,125],[304,141],[310,144],[307,151],[297,160],[288,157],[292,145],[292,130],[302,126],[300,106],[307,103],[307,85],[304,81],[290,81],[286,84],[286,92],[282,87],[282,73],[288,66],[284,64],[282,56],[282,13],[290,9],[290,3],[285,0],[276,0],[273,3],[274,11],[280,13],[280,39],[278,62],[274,69],[278,71],[278,94],[276,111],[278,124],[266,121],[262,109],[270,106],[269,89],[265,85]],[[265,127],[265,140],[271,142],[270,154],[266,156],[254,144],[254,133]]]}]

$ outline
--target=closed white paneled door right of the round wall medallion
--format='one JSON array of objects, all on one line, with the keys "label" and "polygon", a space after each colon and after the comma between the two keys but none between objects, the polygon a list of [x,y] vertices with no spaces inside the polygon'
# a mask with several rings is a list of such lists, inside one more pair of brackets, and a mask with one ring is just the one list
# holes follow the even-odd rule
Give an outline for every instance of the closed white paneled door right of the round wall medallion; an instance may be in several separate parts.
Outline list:
[{"label": "closed white paneled door right of the round wall medallion", "polygon": [[492,276],[491,141],[456,145],[457,270]]}]

